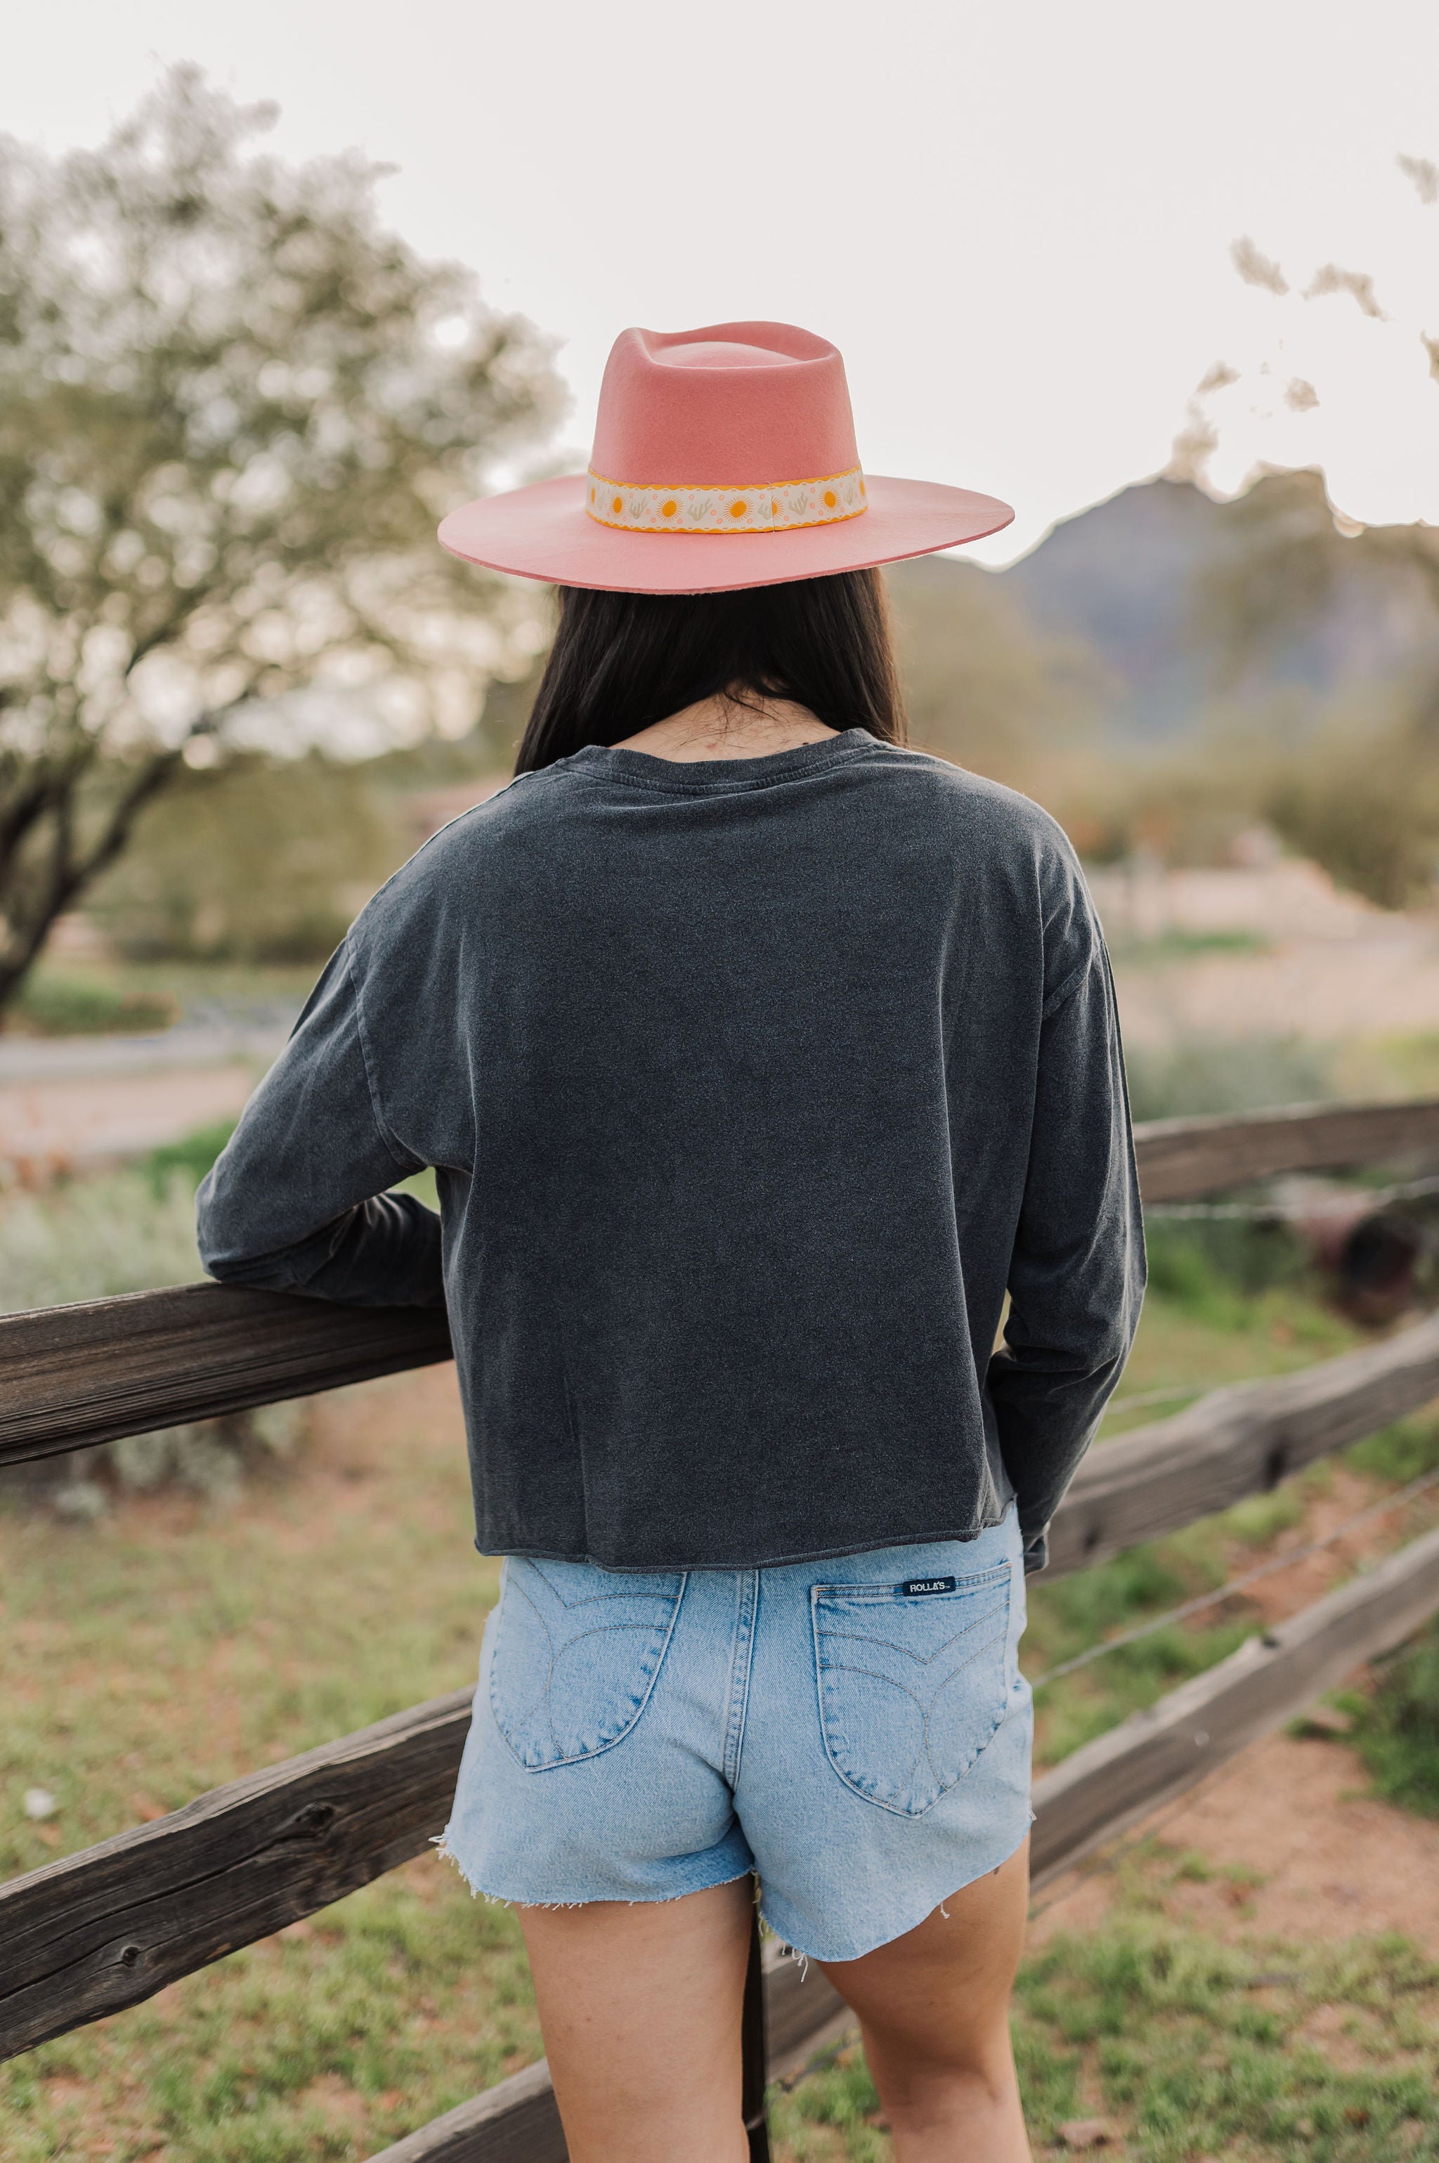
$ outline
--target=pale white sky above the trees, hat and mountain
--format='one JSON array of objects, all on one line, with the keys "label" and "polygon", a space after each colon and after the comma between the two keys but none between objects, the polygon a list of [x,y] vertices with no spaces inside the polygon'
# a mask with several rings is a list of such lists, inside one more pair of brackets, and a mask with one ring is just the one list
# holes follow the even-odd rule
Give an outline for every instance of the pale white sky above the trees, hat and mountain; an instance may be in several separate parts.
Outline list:
[{"label": "pale white sky above the trees, hat and mountain", "polygon": [[[0,130],[93,143],[175,58],[398,167],[409,240],[563,340],[576,463],[623,324],[777,316],[844,350],[870,472],[1017,506],[991,562],[1162,467],[1216,361],[1216,485],[1322,463],[1439,521],[1439,205],[1396,167],[1439,162],[1435,0],[65,0],[6,28]],[[1240,234],[1391,320],[1244,286]]]}]

